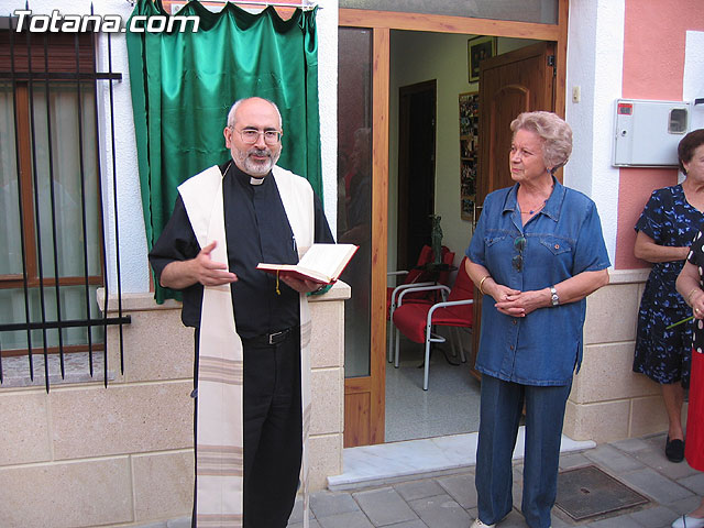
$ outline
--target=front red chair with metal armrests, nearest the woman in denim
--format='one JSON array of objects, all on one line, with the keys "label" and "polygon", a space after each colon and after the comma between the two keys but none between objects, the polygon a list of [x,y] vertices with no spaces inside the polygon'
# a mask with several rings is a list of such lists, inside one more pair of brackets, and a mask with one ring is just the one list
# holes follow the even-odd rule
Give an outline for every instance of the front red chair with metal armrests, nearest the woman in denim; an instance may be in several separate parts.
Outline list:
[{"label": "front red chair with metal armrests, nearest the woman in denim", "polygon": [[[400,333],[406,336],[415,343],[426,343],[426,361],[422,388],[428,391],[428,367],[430,365],[430,343],[443,343],[444,338],[433,334],[432,330],[437,326],[472,328],[474,324],[474,311],[472,304],[474,302],[474,285],[466,274],[464,267],[466,257],[462,258],[458,277],[452,289],[443,285],[421,286],[415,289],[402,292],[398,299],[398,306],[394,310],[393,324],[396,327],[395,338],[396,348],[394,354],[394,366],[398,367],[398,348]],[[449,293],[447,301],[427,305],[422,302],[404,304],[404,297],[409,292],[431,292],[439,290]],[[462,343],[460,344],[460,355],[463,362],[466,362]],[[454,343],[453,343],[454,346]]]}]

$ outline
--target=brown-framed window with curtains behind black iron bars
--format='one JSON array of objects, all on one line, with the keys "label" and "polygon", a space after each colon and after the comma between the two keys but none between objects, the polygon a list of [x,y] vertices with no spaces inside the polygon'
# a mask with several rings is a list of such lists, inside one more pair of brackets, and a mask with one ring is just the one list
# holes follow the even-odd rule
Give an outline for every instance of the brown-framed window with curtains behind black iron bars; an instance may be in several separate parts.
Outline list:
[{"label": "brown-framed window with curtains behind black iron bars", "polygon": [[57,352],[62,376],[108,324],[94,40],[0,31],[0,361]]}]

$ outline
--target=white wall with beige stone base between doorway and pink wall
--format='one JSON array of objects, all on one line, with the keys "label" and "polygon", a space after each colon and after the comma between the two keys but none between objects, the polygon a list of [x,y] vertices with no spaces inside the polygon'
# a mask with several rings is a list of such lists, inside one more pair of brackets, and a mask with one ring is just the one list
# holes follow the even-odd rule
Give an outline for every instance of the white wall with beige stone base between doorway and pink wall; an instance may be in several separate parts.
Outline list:
[{"label": "white wall with beige stone base between doorway and pink wall", "polygon": [[[625,0],[570,1],[566,120],[574,132],[574,151],[564,182],[596,202],[612,263],[620,172],[610,163],[615,101],[623,95],[624,28]],[[702,34],[686,34],[683,100],[700,97],[704,86]],[[574,87],[580,87],[579,102],[572,101]],[[692,112],[692,128],[701,127],[704,106]],[[565,433],[575,440],[604,442],[667,430],[659,385],[631,370],[638,307],[649,271],[612,267],[610,284],[587,299],[584,361],[564,421]]]}]

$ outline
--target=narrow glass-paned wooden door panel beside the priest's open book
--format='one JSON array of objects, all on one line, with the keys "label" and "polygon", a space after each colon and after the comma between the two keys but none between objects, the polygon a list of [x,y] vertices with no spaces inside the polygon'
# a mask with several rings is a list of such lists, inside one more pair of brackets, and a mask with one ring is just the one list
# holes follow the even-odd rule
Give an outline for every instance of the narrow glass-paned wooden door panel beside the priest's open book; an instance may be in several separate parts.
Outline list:
[{"label": "narrow glass-paned wooden door panel beside the priest's open book", "polygon": [[[371,146],[371,157],[362,156],[371,173],[371,186],[362,186],[367,200],[366,234],[363,241],[350,240],[360,245],[356,277],[342,277],[352,286],[352,298],[345,301],[344,352],[344,447],[351,448],[384,441],[389,30],[344,28],[339,42],[339,141],[345,136],[342,129],[363,127]],[[354,143],[349,133],[346,138]],[[344,146],[339,144],[339,150]],[[359,152],[352,152],[351,164],[360,161]],[[345,186],[344,178],[339,186]],[[348,187],[354,194],[353,186]],[[338,241],[359,231],[351,218],[348,215],[345,233],[338,229]]]}]

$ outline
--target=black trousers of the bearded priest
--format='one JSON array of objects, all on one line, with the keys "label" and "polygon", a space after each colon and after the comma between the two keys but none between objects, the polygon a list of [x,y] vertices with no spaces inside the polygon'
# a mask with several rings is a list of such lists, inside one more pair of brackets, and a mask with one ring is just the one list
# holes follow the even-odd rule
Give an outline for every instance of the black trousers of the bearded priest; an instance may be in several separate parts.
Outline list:
[{"label": "black trousers of the bearded priest", "polygon": [[[244,528],[286,528],[302,453],[300,331],[278,344],[243,340],[242,345]],[[194,528],[196,499],[194,493]]]}]

